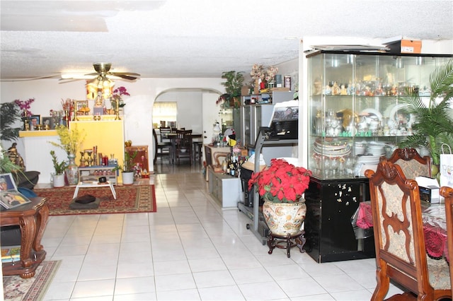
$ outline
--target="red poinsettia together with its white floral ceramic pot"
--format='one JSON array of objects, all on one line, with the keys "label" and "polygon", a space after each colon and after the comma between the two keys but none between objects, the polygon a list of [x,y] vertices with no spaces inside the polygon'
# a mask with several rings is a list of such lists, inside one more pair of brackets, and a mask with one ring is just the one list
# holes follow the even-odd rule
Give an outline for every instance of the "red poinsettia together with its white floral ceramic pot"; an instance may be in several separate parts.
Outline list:
[{"label": "red poinsettia together with its white floral ceramic pot", "polygon": [[263,197],[263,216],[273,234],[286,236],[300,231],[306,214],[302,194],[309,187],[310,176],[310,170],[284,159],[272,159],[270,167],[252,174],[248,189],[256,185]]}]

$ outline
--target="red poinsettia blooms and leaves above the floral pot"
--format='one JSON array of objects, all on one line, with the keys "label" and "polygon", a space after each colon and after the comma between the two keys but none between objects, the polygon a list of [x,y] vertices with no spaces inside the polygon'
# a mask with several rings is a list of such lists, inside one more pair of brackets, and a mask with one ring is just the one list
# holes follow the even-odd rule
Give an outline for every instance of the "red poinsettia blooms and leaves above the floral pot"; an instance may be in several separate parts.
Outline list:
[{"label": "red poinsettia blooms and leaves above the floral pot", "polygon": [[253,185],[258,194],[273,203],[295,203],[309,188],[311,170],[295,167],[284,159],[270,160],[270,167],[254,172],[248,180],[248,189]]}]

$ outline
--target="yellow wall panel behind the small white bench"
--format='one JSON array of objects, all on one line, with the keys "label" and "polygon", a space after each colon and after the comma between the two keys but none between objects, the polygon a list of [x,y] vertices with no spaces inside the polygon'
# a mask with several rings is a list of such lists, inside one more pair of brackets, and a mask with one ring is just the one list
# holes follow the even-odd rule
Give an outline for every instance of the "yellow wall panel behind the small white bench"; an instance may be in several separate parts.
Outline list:
[{"label": "yellow wall panel behind the small white bench", "polygon": [[[103,155],[114,154],[118,164],[123,165],[125,155],[125,135],[123,120],[100,120],[70,122],[69,128],[77,126],[77,129],[85,131],[84,144],[79,151],[98,146],[98,153]],[[80,163],[80,153],[76,155],[76,163]],[[122,172],[118,175],[118,182],[122,183]]]}]

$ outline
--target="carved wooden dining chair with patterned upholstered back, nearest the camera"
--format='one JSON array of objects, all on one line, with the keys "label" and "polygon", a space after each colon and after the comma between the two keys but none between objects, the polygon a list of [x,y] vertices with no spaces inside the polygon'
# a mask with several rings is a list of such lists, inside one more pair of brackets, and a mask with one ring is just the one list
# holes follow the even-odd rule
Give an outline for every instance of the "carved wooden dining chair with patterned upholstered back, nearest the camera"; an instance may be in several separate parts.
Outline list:
[{"label": "carved wooden dining chair with patterned upholstered back, nearest the camera", "polygon": [[[408,291],[388,300],[440,300],[451,297],[449,266],[426,254],[418,184],[401,167],[381,160],[365,171],[374,221],[377,286],[371,300],[384,300],[389,283]],[[415,295],[413,295],[415,294]]]}]

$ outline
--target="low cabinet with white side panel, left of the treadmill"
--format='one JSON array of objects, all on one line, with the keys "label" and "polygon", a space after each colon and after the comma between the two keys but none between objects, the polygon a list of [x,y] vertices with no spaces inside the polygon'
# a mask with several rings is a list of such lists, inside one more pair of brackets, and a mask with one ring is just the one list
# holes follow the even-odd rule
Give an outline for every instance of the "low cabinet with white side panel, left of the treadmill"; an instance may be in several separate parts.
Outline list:
[{"label": "low cabinet with white side panel, left of the treadmill", "polygon": [[236,208],[241,201],[241,179],[231,177],[219,172],[214,172],[212,167],[207,168],[209,172],[209,191],[212,198],[219,203],[222,208]]}]

